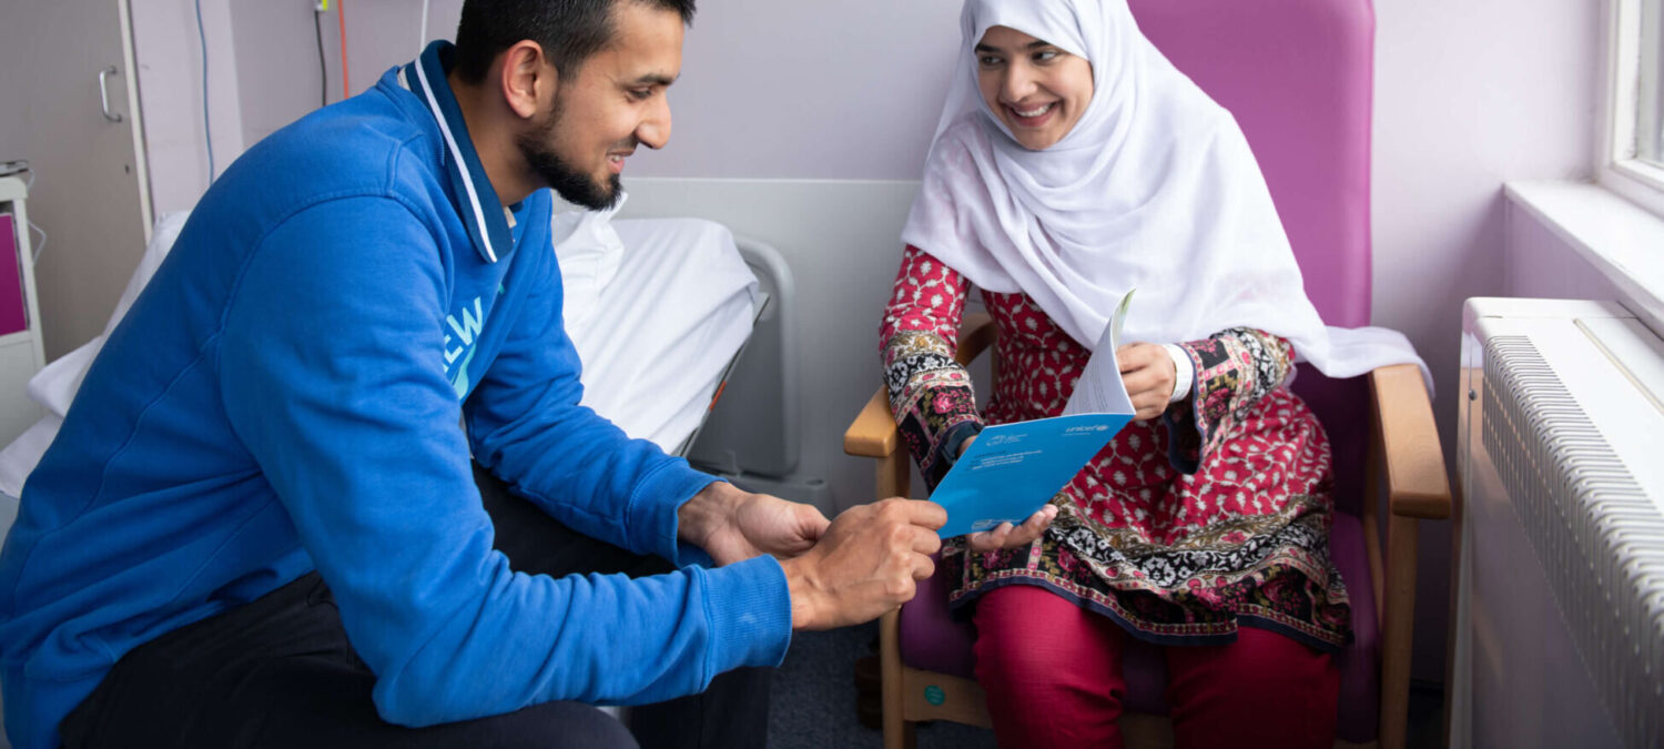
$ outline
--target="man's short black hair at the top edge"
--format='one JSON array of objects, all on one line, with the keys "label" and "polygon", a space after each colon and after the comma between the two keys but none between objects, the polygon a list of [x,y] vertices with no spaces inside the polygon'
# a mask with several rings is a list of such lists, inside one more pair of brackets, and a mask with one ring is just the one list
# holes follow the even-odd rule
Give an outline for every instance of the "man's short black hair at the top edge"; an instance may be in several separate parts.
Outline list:
[{"label": "man's short black hair at the top edge", "polygon": [[561,75],[574,75],[612,42],[612,7],[619,3],[674,10],[682,23],[694,22],[694,0],[464,0],[456,27],[456,75],[479,83],[498,53],[526,38],[542,47]]}]

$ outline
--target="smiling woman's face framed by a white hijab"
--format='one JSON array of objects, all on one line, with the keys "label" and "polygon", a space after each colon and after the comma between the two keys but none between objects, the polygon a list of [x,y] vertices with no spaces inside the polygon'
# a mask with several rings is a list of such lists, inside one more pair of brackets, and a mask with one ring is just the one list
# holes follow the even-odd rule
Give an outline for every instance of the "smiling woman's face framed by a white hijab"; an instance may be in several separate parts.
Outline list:
[{"label": "smiling woman's face framed by a white hijab", "polygon": [[977,42],[982,100],[1028,150],[1063,140],[1092,102],[1092,63],[1007,27]]}]

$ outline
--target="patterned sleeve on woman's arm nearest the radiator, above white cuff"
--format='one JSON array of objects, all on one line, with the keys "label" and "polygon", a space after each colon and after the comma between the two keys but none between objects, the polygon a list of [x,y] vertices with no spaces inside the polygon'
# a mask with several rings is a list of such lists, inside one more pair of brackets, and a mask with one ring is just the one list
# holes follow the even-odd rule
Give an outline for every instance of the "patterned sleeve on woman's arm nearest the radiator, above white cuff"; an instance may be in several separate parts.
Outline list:
[{"label": "patterned sleeve on woman's arm nearest the radiator, above white cuff", "polygon": [[1168,408],[1161,419],[1171,436],[1168,461],[1183,473],[1196,473],[1201,458],[1236,431],[1236,423],[1266,393],[1288,381],[1295,348],[1253,328],[1230,328],[1180,348],[1195,366],[1195,384],[1190,398]]}]

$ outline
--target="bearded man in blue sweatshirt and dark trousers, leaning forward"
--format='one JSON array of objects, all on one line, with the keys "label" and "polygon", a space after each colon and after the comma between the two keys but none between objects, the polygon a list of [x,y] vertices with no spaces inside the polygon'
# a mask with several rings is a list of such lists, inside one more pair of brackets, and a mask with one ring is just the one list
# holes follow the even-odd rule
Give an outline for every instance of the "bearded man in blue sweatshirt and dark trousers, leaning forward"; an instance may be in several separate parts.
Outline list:
[{"label": "bearded man in blue sweatshirt and dark trousers, leaning forward", "polygon": [[0,551],[15,746],[632,746],[591,704],[912,598],[942,508],[829,523],[577,406],[542,188],[609,205],[666,143],[691,15],[468,0],[456,47],[226,170]]}]

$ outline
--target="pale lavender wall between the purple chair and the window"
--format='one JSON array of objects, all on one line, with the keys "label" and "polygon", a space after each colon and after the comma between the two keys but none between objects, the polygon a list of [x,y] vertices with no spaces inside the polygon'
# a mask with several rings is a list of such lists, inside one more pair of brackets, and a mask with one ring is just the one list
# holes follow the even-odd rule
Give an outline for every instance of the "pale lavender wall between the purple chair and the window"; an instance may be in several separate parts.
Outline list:
[{"label": "pale lavender wall between the purple chair and the window", "polygon": [[[1433,368],[1454,466],[1461,303],[1501,296],[1516,178],[1592,173],[1601,3],[1376,3],[1374,323]],[[1449,523],[1423,523],[1414,676],[1443,681]]]}]

